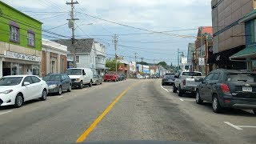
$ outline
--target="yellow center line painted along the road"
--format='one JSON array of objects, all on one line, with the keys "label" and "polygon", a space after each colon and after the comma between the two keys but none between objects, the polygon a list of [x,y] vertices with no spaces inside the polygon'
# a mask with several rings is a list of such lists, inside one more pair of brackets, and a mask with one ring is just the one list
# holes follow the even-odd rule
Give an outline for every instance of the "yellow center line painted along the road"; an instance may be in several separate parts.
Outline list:
[{"label": "yellow center line painted along the road", "polygon": [[106,110],[104,110],[103,113],[102,113],[100,116],[98,116],[97,119],[94,120],[94,122],[90,125],[90,127],[89,127],[86,131],[84,131],[84,132],[82,133],[82,135],[77,139],[76,142],[83,142],[83,141],[86,139],[86,137],[88,136],[88,134],[90,134],[90,132],[91,132],[92,130],[94,130],[95,126],[98,125],[98,122],[101,122],[102,118],[104,118],[105,115],[112,109],[112,107],[115,105],[115,103],[118,102],[118,100],[119,100],[120,98],[122,98],[122,96],[123,96],[124,94],[126,94],[128,90],[130,90],[131,88],[133,88],[133,87],[134,87],[135,85],[137,85],[137,84],[138,84],[138,82],[137,82],[137,83],[134,83],[132,86],[129,86],[128,89],[124,90],[124,91],[122,92],[122,94],[118,95],[118,98],[115,98],[115,99],[114,99],[114,102],[112,102],[112,103],[110,104],[110,106],[108,106],[108,107],[106,108]]}]

